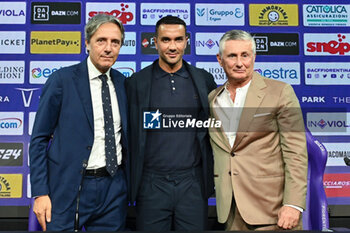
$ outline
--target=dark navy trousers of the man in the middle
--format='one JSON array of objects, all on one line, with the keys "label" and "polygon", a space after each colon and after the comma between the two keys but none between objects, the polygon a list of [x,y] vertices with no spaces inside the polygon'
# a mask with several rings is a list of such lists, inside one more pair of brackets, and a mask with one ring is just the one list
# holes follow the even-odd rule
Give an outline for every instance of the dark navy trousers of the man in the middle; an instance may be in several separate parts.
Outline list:
[{"label": "dark navy trousers of the man in the middle", "polygon": [[205,230],[208,200],[201,186],[199,168],[173,173],[145,171],[136,200],[137,230]]}]

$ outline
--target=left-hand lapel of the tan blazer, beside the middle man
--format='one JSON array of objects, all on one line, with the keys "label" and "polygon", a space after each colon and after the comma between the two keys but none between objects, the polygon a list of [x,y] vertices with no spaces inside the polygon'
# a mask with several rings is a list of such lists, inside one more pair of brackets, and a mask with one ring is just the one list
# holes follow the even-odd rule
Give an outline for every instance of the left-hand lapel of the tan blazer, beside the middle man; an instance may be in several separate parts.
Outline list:
[{"label": "left-hand lapel of the tan blazer, beside the middle man", "polygon": [[[225,85],[226,85],[226,83],[224,85],[222,85],[221,87],[218,87],[217,89],[215,89],[215,91],[209,95],[209,106],[211,106],[210,115],[217,120],[219,120],[219,117],[216,113],[214,103],[216,101],[217,96],[224,90]],[[230,146],[230,143],[228,141],[228,138],[226,137],[223,126],[221,126],[220,129],[215,128],[215,127],[211,128],[209,130],[209,134],[210,134],[211,139],[218,146],[220,146],[222,149],[226,150],[228,153],[231,151],[231,146]]]}]

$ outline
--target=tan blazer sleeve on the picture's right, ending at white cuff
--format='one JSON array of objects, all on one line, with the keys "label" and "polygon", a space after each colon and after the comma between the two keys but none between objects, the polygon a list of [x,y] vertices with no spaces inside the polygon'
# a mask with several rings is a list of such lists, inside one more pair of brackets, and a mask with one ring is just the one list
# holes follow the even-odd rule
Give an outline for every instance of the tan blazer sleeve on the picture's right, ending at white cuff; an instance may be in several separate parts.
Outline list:
[{"label": "tan blazer sleeve on the picture's right, ending at white cuff", "polygon": [[283,204],[305,209],[308,168],[305,128],[298,98],[290,85],[281,92],[277,122],[285,166]]}]

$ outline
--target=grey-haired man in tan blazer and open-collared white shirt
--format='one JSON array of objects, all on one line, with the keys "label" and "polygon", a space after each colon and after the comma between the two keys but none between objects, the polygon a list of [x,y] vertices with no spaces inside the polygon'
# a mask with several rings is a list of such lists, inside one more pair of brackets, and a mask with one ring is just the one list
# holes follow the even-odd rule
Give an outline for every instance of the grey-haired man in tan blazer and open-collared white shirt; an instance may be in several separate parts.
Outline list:
[{"label": "grey-haired man in tan blazer and open-collared white shirt", "polygon": [[224,34],[227,82],[209,94],[218,220],[226,230],[302,229],[307,186],[304,123],[293,88],[254,72],[255,42]]}]

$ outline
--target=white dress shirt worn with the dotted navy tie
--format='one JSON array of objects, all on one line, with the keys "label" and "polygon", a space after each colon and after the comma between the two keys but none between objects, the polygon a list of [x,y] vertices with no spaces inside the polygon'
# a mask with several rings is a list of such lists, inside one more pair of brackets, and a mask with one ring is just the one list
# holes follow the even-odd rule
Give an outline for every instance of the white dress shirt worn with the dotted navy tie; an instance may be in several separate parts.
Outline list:
[{"label": "white dress shirt worn with the dotted navy tie", "polygon": [[[102,73],[92,64],[90,57],[87,59],[87,67],[89,73],[89,83],[91,91],[92,110],[94,116],[94,143],[92,145],[91,154],[88,161],[87,169],[97,169],[106,166],[105,155],[105,130],[104,130],[104,117],[102,107],[102,81],[98,78]],[[121,121],[119,113],[119,105],[117,100],[117,94],[114,89],[113,82],[111,81],[110,69],[106,72],[107,83],[109,92],[111,95],[113,125],[115,132],[115,143],[118,165],[122,161],[122,146],[120,144],[121,139]]]}]

